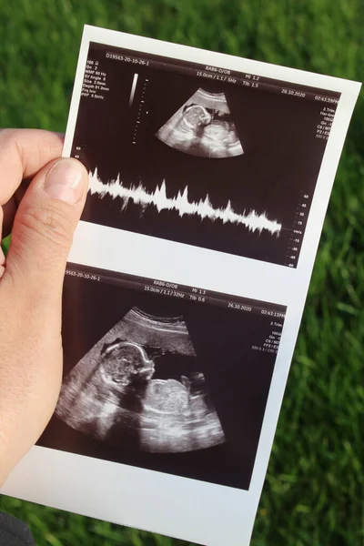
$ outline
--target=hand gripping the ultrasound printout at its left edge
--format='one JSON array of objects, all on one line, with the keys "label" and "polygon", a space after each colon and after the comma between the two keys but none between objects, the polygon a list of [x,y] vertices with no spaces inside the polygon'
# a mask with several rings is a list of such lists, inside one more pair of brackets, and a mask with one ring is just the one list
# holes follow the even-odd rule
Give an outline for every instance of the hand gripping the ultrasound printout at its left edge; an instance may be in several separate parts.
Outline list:
[{"label": "hand gripping the ultrasound printout at its left edge", "polygon": [[6,231],[13,224],[6,260],[0,249],[0,485],[45,429],[61,386],[62,286],[87,193],[86,168],[60,159],[62,145],[47,131],[0,131],[0,240],[3,219]]}]

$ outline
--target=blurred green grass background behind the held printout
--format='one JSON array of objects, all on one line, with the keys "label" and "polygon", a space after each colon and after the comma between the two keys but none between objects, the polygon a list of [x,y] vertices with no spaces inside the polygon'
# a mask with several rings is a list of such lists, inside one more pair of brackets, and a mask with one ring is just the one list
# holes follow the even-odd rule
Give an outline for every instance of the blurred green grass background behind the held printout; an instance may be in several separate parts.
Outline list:
[{"label": "blurred green grass background behind the held printout", "polygon": [[[84,24],[331,76],[364,76],[363,0],[0,0],[0,126],[65,130]],[[5,173],[1,177],[4,183]],[[309,288],[253,546],[364,544],[363,177],[360,96]],[[187,544],[5,497],[0,510],[25,520],[40,546]]]}]

